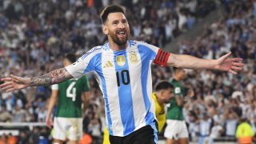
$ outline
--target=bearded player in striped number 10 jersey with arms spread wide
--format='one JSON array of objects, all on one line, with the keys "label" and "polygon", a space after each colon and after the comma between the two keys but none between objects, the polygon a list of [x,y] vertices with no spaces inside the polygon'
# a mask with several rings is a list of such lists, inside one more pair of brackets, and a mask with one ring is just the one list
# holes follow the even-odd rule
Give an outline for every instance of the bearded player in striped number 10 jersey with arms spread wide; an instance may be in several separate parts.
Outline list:
[{"label": "bearded player in striped number 10 jersey with arms spread wide", "polygon": [[125,9],[107,6],[101,13],[102,31],[108,43],[96,46],[70,66],[38,77],[10,75],[0,87],[6,92],[27,86],[47,86],[80,78],[93,72],[102,90],[106,123],[111,143],[157,143],[158,130],[154,114],[151,64],[190,69],[211,69],[238,74],[242,58],[195,58],[185,54],[167,53],[145,42],[128,40],[130,27]]}]

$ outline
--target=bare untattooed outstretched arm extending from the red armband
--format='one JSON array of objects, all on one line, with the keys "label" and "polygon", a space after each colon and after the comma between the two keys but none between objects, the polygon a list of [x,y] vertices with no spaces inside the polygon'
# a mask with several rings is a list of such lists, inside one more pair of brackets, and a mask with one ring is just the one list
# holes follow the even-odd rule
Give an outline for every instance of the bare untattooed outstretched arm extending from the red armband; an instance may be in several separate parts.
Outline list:
[{"label": "bare untattooed outstretched arm extending from the red armband", "polygon": [[238,74],[242,71],[242,58],[228,58],[231,53],[223,55],[218,59],[195,58],[186,54],[170,54],[167,64],[188,69],[212,69],[229,71],[231,74]]}]

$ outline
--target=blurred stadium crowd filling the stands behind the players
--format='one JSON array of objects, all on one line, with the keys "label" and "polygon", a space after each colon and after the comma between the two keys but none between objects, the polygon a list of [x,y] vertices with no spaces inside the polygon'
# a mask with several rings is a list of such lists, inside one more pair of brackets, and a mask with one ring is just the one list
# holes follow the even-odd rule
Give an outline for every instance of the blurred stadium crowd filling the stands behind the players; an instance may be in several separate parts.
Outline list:
[{"label": "blurred stadium crowd filling the stands behind the players", "polygon": [[[6,71],[22,76],[46,74],[62,66],[64,54],[80,56],[102,45],[106,38],[98,13],[116,2],[128,8],[132,39],[159,47],[191,29],[219,5],[218,1],[201,0],[1,1],[0,77],[8,75]],[[222,18],[207,26],[195,41],[180,42],[179,53],[219,58],[232,51],[233,56],[244,58],[246,67],[238,75],[186,70],[184,86],[192,88],[195,97],[186,104],[184,114],[194,142],[200,135],[234,138],[240,118],[247,118],[256,133],[256,2],[223,0],[222,6]],[[153,85],[173,74],[171,68],[160,66],[154,66],[152,73]],[[105,128],[104,102],[97,82],[89,77],[91,99],[83,130],[98,140]],[[45,122],[50,87],[30,87],[7,94],[0,91],[0,96],[0,122]],[[216,129],[200,127],[202,121]],[[49,130],[34,127],[32,132],[23,131],[19,142],[38,142],[42,136],[50,138]]]}]

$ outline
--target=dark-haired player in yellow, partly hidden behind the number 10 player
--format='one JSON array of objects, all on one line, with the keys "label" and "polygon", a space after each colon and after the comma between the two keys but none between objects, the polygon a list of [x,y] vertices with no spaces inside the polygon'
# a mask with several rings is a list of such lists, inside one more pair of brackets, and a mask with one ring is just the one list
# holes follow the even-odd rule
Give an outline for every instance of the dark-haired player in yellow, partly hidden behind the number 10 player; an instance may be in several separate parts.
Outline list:
[{"label": "dark-haired player in yellow, partly hidden behind the number 10 player", "polygon": [[[155,92],[152,94],[155,106],[155,115],[158,120],[158,132],[162,131],[166,123],[165,103],[169,103],[173,98],[174,86],[170,82],[162,81],[155,86]],[[104,130],[103,144],[109,144],[109,133],[107,128]]]}]

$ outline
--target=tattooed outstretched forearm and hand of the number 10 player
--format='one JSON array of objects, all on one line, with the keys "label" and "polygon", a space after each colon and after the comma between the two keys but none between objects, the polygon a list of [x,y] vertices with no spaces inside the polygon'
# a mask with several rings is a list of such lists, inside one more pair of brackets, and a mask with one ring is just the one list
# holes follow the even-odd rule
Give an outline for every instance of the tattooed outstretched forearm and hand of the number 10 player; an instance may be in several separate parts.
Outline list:
[{"label": "tattooed outstretched forearm and hand of the number 10 player", "polygon": [[0,88],[6,92],[24,89],[27,86],[48,86],[56,84],[59,82],[66,81],[73,76],[66,70],[66,68],[61,68],[53,70],[48,74],[44,74],[39,77],[32,78],[22,78],[14,75],[10,75],[9,78],[2,78],[1,81],[4,81]]}]

